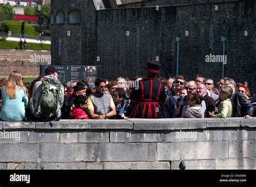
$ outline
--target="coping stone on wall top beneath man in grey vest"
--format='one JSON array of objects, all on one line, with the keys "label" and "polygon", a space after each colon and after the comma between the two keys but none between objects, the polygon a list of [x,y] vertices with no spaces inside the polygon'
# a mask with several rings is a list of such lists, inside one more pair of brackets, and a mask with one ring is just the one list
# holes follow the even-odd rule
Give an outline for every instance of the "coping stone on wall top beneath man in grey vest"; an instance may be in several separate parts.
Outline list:
[{"label": "coping stone on wall top beneath man in grey vest", "polygon": [[133,123],[129,120],[88,120],[89,128],[90,129],[132,129]]}]

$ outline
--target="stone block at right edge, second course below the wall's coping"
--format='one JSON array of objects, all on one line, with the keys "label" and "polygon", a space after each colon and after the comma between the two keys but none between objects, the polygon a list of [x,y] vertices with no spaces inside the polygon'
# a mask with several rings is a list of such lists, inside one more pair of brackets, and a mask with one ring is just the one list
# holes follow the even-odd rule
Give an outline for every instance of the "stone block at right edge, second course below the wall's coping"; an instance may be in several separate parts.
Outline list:
[{"label": "stone block at right edge, second course below the wall's coping", "polygon": [[229,157],[256,157],[256,140],[229,141]]}]

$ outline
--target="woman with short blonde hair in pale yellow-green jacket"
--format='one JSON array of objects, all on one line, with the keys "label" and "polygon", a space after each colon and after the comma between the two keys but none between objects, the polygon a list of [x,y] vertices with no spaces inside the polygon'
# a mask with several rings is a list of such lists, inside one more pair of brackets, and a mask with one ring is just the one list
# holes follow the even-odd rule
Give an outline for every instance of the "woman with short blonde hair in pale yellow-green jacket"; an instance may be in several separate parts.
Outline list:
[{"label": "woman with short blonde hair in pale yellow-green jacket", "polygon": [[228,86],[224,85],[220,88],[220,96],[219,98],[222,102],[218,106],[217,114],[213,112],[209,112],[209,116],[211,118],[230,118],[232,116],[232,103],[231,97],[233,95],[233,89]]}]

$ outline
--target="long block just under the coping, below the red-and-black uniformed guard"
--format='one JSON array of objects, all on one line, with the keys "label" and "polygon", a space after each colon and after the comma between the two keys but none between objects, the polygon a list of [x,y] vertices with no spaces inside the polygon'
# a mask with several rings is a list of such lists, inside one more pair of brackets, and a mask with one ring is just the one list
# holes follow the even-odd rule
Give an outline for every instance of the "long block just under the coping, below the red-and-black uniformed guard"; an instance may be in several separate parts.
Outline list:
[{"label": "long block just under the coping, below the red-and-black uniformed guard", "polygon": [[163,142],[163,131],[110,132],[111,142]]}]

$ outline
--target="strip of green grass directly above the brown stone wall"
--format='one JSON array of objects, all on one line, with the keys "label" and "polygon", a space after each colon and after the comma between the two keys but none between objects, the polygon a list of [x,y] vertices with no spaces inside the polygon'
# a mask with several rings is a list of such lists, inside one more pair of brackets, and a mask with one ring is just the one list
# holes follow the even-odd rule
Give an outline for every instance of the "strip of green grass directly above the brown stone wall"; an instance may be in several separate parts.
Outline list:
[{"label": "strip of green grass directly above the brown stone wall", "polygon": [[[35,44],[26,43],[27,49],[29,50],[45,50],[51,51],[51,45],[49,44]],[[23,48],[23,45],[22,45]],[[5,41],[0,40],[0,49],[19,49],[18,41]]]}]

